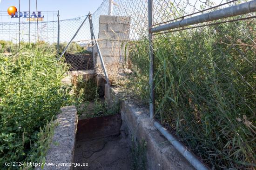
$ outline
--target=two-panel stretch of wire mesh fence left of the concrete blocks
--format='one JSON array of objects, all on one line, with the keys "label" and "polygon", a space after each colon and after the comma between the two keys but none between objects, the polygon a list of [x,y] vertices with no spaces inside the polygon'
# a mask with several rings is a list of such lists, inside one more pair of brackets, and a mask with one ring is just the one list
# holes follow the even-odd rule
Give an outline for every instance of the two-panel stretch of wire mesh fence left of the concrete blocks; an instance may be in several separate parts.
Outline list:
[{"label": "two-panel stretch of wire mesh fence left of the concrete blocks", "polygon": [[[40,13],[43,20],[36,21],[35,18],[11,18],[7,12],[0,12],[0,50],[2,52],[17,52],[20,48],[36,45],[40,49],[56,52],[58,47],[58,24],[60,28],[60,49],[70,42],[78,28],[87,16],[70,20],[59,20],[58,12],[44,11]],[[32,20],[33,19],[33,20]],[[89,43],[91,42],[89,22],[85,22],[78,34],[72,40],[65,52],[65,59],[70,64],[70,70],[94,69],[93,58]]]}]

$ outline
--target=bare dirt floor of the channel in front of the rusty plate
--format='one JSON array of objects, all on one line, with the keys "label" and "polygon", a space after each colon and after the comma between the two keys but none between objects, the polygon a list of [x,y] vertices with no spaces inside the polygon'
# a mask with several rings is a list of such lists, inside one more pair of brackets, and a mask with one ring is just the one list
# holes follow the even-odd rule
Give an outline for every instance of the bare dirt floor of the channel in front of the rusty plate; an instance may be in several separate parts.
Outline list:
[{"label": "bare dirt floor of the channel in front of the rusty plate", "polygon": [[131,151],[120,136],[103,137],[76,142],[75,163],[88,163],[88,167],[74,170],[131,170]]}]

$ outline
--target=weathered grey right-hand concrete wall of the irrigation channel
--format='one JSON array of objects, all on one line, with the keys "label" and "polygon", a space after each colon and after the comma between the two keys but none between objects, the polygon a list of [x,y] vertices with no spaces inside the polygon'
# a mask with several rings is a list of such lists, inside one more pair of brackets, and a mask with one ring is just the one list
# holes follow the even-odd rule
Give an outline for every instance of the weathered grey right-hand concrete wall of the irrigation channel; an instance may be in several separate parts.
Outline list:
[{"label": "weathered grey right-hand concrete wall of the irrigation channel", "polygon": [[147,108],[140,108],[133,102],[119,99],[119,92],[105,85],[105,99],[108,105],[120,104],[121,131],[139,142],[147,142],[148,170],[193,170],[191,164],[162,136],[148,118]]}]

